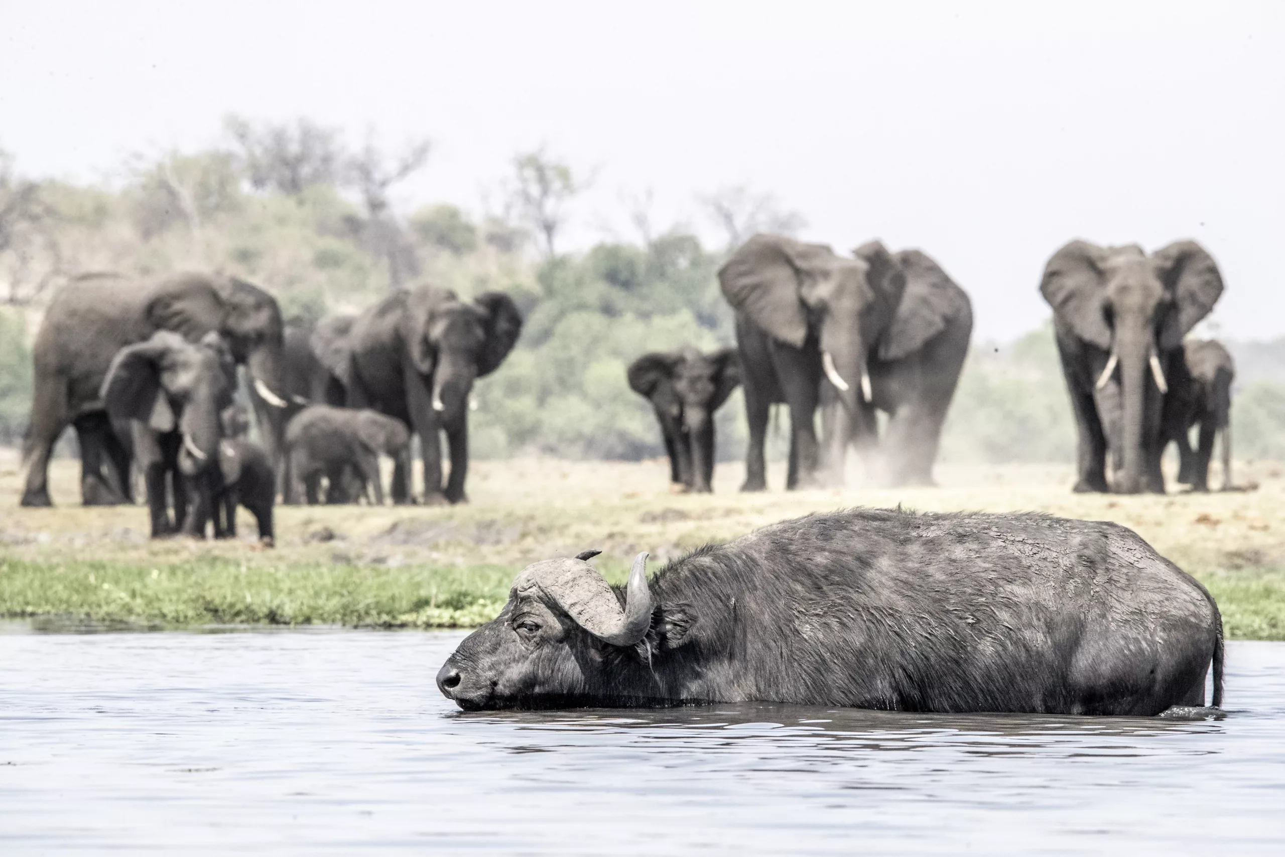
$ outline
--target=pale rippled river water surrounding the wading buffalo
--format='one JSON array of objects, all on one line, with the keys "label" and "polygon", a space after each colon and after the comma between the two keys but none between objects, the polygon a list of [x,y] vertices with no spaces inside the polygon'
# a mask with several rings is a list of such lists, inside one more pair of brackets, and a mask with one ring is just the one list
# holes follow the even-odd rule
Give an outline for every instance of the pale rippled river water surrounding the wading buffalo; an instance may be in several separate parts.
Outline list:
[{"label": "pale rippled river water surrounding the wading buffalo", "polygon": [[463,714],[461,636],[6,626],[0,853],[1285,853],[1285,644],[1217,721]]}]

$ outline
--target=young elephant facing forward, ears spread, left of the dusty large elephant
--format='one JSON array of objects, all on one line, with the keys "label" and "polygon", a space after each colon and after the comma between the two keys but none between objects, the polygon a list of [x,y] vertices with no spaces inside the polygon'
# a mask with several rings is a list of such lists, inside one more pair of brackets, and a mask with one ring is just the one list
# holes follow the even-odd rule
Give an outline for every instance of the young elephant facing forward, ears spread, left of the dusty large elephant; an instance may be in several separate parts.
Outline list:
[{"label": "young elephant facing forward, ears spread, left of the dusty large elephant", "polygon": [[734,348],[708,355],[691,346],[653,351],[626,373],[630,389],[651,402],[669,456],[669,483],[708,492],[714,472],[714,411],[740,384]]}]

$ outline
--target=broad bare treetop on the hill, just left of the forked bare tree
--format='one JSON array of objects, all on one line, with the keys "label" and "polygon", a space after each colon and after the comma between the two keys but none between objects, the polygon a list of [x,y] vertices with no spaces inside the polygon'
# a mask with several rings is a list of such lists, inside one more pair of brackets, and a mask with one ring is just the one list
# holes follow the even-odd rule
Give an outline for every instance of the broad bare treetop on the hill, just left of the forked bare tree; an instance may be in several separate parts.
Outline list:
[{"label": "broad bare treetop on the hill, just left of the forked bare tree", "polygon": [[339,184],[344,166],[339,131],[311,119],[293,123],[252,123],[229,116],[224,127],[236,143],[239,161],[254,190],[276,190],[299,197],[314,185]]}]

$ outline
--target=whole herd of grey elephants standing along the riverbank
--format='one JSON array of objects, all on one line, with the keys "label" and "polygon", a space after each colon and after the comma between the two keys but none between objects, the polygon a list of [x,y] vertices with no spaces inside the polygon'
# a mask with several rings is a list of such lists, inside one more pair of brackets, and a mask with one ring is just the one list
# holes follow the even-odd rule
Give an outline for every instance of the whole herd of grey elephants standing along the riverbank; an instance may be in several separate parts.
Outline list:
[{"label": "whole herd of grey elephants standing along the riverbank", "polygon": [[[743,491],[766,488],[774,403],[790,416],[786,488],[842,484],[849,446],[875,483],[932,484],[973,328],[968,294],[941,266],[879,242],[842,256],[754,235],[718,281],[736,347],[651,352],[627,373],[654,409],[675,490],[711,490],[714,412],[738,385],[749,428]],[[1207,490],[1218,432],[1230,484],[1231,357],[1216,342],[1183,340],[1222,288],[1194,242],[1148,254],[1077,240],[1050,258],[1040,290],[1054,308],[1076,418],[1076,491],[1163,492],[1171,441],[1180,481]],[[461,502],[473,383],[500,366],[522,324],[500,292],[461,299],[421,285],[303,326],[285,325],[267,292],[236,278],[76,278],[54,296],[35,342],[22,505],[51,505],[48,464],[67,427],[80,445],[82,501],[132,502],[137,474],[153,536],[202,536],[209,523],[216,536],[234,535],[239,504],[270,542],[279,493],[383,502],[380,455],[393,459],[394,502]],[[242,385],[257,445],[235,403]]]}]

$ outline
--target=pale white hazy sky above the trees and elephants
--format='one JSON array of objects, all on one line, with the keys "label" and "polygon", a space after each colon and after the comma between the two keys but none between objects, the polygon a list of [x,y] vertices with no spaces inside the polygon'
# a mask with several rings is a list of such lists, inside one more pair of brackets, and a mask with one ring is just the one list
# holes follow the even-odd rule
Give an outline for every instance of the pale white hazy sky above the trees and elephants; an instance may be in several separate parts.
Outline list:
[{"label": "pale white hazy sky above the trees and elephants", "polygon": [[1218,260],[1223,335],[1285,334],[1282,3],[50,3],[0,0],[0,148],[27,175],[224,141],[307,116],[429,136],[405,208],[479,211],[518,149],[595,175],[572,240],[621,199],[708,231],[745,184],[837,249],[921,247],[982,337],[1049,315],[1070,238]]}]

